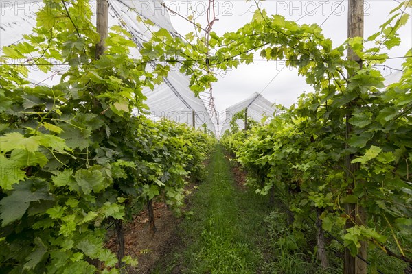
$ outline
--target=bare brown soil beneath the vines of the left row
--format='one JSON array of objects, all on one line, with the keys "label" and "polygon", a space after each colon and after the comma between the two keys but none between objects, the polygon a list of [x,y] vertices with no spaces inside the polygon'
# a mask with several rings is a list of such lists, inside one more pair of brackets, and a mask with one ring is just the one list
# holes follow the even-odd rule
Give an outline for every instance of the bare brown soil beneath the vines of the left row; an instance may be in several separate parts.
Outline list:
[{"label": "bare brown soil beneath the vines of the left row", "polygon": [[[135,216],[133,221],[124,225],[125,255],[137,258],[138,265],[128,269],[128,273],[150,273],[152,266],[167,253],[178,241],[176,225],[181,221],[176,218],[163,202],[153,203],[157,232],[150,234],[147,210]],[[106,246],[117,253],[117,238],[113,234]]]}]

